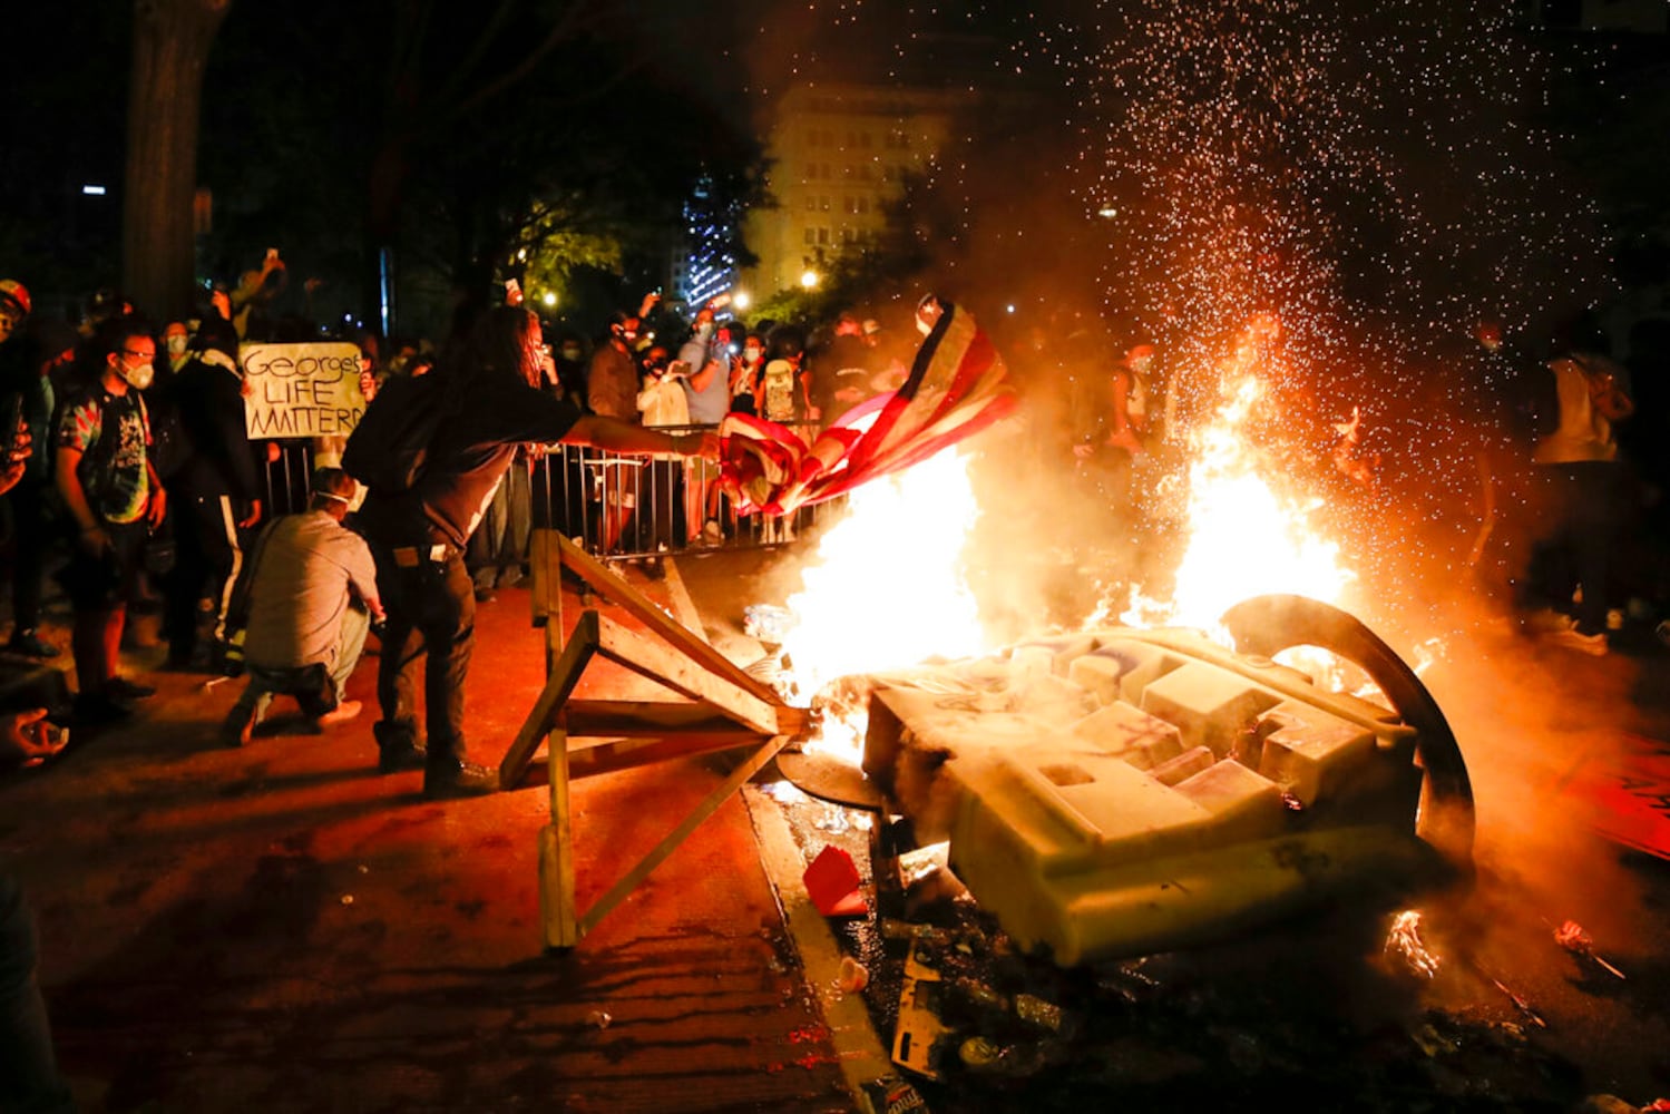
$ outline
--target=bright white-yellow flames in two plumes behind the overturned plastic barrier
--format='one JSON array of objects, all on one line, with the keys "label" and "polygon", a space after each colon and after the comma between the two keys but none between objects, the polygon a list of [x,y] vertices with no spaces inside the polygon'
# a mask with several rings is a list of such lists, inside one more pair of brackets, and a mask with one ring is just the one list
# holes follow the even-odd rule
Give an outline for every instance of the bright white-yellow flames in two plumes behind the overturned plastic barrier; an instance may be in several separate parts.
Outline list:
[{"label": "bright white-yellow flames in two plumes behind the overturned plastic barrier", "polygon": [[[1334,603],[1353,580],[1339,548],[1311,523],[1316,501],[1279,493],[1263,474],[1268,458],[1246,429],[1264,387],[1244,352],[1239,346],[1224,362],[1224,403],[1191,439],[1187,546],[1174,590],[1167,600],[1132,591],[1121,615],[1127,626],[1194,626],[1227,638],[1217,620],[1241,600],[1299,593]],[[805,696],[852,673],[994,650],[962,571],[979,511],[969,459],[957,449],[853,491],[847,518],[803,571],[805,590],[787,601],[795,623],[783,665],[793,688]],[[1104,625],[1111,610],[1086,623]],[[850,757],[862,738],[862,710],[827,711],[822,748]]]}]

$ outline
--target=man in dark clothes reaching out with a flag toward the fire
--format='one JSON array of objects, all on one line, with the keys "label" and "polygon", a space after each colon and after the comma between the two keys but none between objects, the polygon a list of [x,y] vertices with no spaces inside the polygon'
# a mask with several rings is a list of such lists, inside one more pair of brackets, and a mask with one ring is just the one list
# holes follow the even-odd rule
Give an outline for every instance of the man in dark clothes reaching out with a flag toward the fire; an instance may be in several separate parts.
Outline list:
[{"label": "man in dark clothes reaching out with a flag toward the fire", "polygon": [[[670,436],[581,414],[573,403],[541,391],[536,384],[549,359],[534,314],[519,306],[489,311],[463,354],[431,372],[443,377],[446,421],[429,443],[418,483],[397,494],[372,488],[359,511],[389,615],[377,663],[382,718],[372,728],[379,768],[419,762],[414,680],[423,656],[428,797],[498,788],[496,770],[466,762],[464,678],[474,648],[476,595],[464,549],[518,446],[564,441],[613,453],[718,458],[716,434]],[[352,438],[347,453],[344,466],[352,473]]]}]

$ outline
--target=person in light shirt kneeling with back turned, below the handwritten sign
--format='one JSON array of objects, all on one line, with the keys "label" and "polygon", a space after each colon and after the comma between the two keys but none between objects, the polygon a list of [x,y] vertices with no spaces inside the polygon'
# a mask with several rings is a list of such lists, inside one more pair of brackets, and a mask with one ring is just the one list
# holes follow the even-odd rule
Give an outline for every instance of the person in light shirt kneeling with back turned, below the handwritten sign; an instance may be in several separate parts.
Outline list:
[{"label": "person in light shirt kneeling with back turned, below the handwritten sign", "polygon": [[347,473],[321,468],[307,509],[274,521],[256,541],[239,585],[244,600],[232,606],[245,618],[249,685],[222,725],[227,745],[249,742],[274,695],[294,696],[321,728],[359,715],[347,678],[371,623],[382,620],[382,601],[371,549],[342,526],[352,498]]}]

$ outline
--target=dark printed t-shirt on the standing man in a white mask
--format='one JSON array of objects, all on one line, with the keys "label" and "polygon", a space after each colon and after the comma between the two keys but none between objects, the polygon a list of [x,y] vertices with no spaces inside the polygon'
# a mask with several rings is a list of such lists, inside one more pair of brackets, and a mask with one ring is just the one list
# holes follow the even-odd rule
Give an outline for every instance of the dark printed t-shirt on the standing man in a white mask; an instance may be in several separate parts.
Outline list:
[{"label": "dark printed t-shirt on the standing man in a white mask", "polygon": [[150,419],[139,391],[112,394],[94,387],[65,403],[55,444],[78,449],[75,478],[87,493],[87,506],[107,523],[137,523],[150,499],[145,449]]}]

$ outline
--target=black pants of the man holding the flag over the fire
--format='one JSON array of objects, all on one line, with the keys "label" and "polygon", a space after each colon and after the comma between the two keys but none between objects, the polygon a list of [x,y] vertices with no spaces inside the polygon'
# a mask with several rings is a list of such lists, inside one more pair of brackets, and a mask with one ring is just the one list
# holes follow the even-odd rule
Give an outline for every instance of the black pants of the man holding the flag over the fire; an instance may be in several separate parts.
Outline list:
[{"label": "black pants of the man holding the flag over the fire", "polygon": [[449,546],[444,561],[419,558],[402,565],[389,546],[372,544],[371,551],[389,616],[377,660],[377,742],[418,738],[416,678],[423,658],[429,770],[456,773],[466,753],[464,678],[476,646],[476,591],[464,558]]}]

